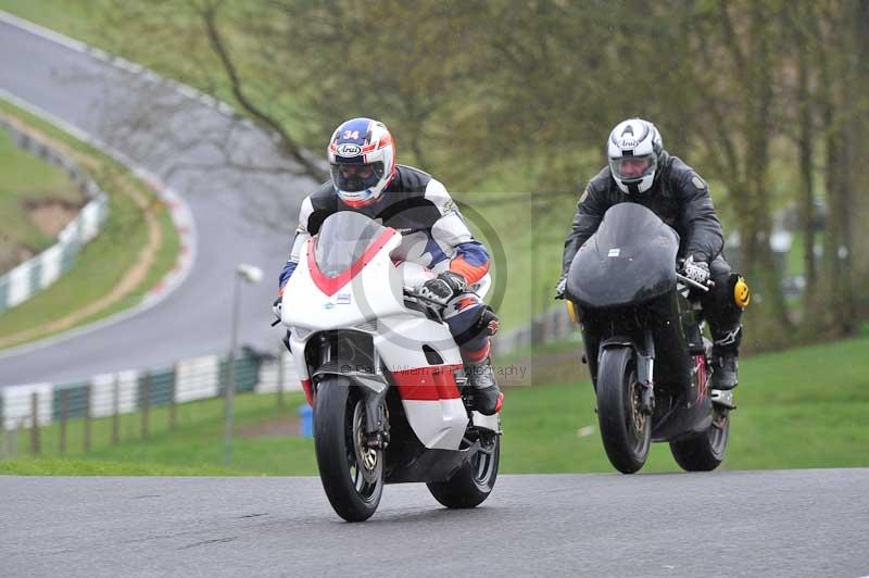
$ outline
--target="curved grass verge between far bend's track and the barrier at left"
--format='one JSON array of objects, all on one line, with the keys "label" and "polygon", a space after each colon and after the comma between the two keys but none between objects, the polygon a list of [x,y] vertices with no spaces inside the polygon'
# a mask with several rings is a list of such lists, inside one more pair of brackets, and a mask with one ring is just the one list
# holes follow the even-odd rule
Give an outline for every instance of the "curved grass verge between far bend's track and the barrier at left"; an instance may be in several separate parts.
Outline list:
[{"label": "curved grass verge between far bend's track and the barrier at left", "polygon": [[[119,191],[122,180],[135,187],[153,203],[149,210],[153,211],[158,218],[163,235],[163,244],[144,280],[130,294],[90,317],[80,319],[75,326],[106,317],[139,303],[141,298],[168,274],[177,262],[180,239],[168,210],[156,203],[156,196],[125,167],[91,147],[75,140],[12,104],[0,101],[0,110],[96,160],[99,168],[92,171],[91,176],[109,193],[109,219],[100,235],[84,248],[73,268],[54,285],[0,315],[0,338],[42,326],[92,303],[111,292],[130,265],[136,263],[141,248],[147,242],[148,227],[142,209],[128,194]],[[27,341],[49,337],[64,330],[67,329],[46,330],[33,336]],[[16,344],[23,342],[26,341]]]}]

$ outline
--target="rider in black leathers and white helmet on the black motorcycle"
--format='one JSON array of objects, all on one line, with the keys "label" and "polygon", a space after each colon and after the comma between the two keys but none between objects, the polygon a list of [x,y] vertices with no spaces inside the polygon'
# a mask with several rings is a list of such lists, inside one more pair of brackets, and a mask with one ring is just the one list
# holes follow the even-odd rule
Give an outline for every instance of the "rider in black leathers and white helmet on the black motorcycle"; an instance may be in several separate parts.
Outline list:
[{"label": "rider in black leathers and white helmet on the black motorcycle", "polygon": [[[706,181],[664,150],[657,128],[646,121],[630,118],[619,123],[607,144],[609,166],[589,181],[577,204],[572,228],[565,240],[556,298],[564,298],[570,263],[597,230],[606,210],[625,202],[642,204],[679,234],[679,256],[685,260],[682,273],[693,280],[711,279],[715,284],[701,300],[714,341],[713,388],[733,389],[739,382],[740,322],[747,304],[747,287],[731,273],[722,255],[723,234]],[[734,290],[745,293],[734,300]]]}]

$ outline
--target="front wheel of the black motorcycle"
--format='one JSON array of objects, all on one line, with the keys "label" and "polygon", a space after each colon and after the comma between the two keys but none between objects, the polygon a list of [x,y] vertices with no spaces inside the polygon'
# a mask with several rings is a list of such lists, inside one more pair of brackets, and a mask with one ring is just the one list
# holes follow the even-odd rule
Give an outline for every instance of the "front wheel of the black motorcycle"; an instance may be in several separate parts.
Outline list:
[{"label": "front wheel of the black motorcycle", "polygon": [[652,416],[640,413],[642,384],[637,380],[633,349],[608,347],[597,369],[597,420],[604,450],[622,474],[643,467],[652,443]]}]

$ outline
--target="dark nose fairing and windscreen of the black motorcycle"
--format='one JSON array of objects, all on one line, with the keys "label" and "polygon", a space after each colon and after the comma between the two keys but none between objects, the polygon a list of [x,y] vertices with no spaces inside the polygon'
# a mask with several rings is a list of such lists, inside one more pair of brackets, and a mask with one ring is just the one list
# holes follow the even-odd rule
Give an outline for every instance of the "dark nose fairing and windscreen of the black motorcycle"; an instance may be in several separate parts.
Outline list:
[{"label": "dark nose fairing and windscreen of the black motorcycle", "polygon": [[637,203],[610,208],[597,231],[579,249],[567,277],[567,296],[588,307],[647,301],[676,287],[679,235]]}]

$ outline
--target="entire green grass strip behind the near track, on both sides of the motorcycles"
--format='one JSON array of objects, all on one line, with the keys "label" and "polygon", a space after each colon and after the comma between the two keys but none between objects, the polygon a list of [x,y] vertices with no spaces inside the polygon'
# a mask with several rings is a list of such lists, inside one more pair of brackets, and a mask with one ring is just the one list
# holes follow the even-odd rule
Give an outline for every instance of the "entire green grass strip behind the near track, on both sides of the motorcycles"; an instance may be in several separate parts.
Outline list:
[{"label": "entire green grass strip behind the near track, on both sides of the motorcycles", "polygon": [[[869,412],[867,348],[869,337],[861,337],[744,360],[743,385],[736,390],[739,410],[732,414],[730,447],[721,468],[869,466],[869,429],[864,427]],[[614,472],[601,443],[587,380],[512,388],[506,395],[502,473]],[[293,393],[287,399],[280,407],[275,395],[240,395],[239,430],[293,418],[303,398]],[[87,455],[81,451],[80,423],[71,424],[67,457],[73,465],[18,457],[0,462],[0,473],[159,474],[161,468],[182,467],[206,474],[223,464],[222,411],[221,400],[179,406],[179,429],[169,432],[167,410],[155,410],[146,441],[140,439],[140,416],[124,416],[118,445],[108,442],[111,420],[99,419],[92,426],[93,451]],[[56,424],[42,430],[43,455],[55,455],[59,431]],[[18,444],[24,455],[26,432]],[[232,456],[231,468],[222,473],[316,474],[310,439],[236,436]],[[643,472],[679,468],[668,447],[658,443]]]}]

